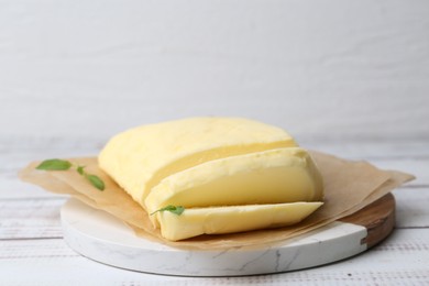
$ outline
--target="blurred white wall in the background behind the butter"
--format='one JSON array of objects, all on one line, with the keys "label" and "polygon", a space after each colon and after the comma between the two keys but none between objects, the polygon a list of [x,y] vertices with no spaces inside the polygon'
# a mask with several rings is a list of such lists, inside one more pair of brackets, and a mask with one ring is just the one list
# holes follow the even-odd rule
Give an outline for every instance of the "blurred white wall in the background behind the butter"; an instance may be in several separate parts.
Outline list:
[{"label": "blurred white wall in the background behind the butter", "polygon": [[427,140],[429,2],[0,1],[2,145],[193,116]]}]

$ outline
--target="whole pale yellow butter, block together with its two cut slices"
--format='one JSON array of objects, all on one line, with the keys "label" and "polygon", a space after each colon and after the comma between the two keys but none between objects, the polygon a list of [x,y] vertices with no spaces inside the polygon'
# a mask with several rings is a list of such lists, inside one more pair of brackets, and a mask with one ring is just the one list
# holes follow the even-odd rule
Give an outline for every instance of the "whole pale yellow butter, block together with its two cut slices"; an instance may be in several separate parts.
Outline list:
[{"label": "whole pale yellow butter, block together with its two cut slices", "polygon": [[[309,153],[284,130],[240,118],[191,118],[131,129],[99,166],[168,240],[297,223],[322,205]],[[183,206],[175,215],[157,211]]]}]

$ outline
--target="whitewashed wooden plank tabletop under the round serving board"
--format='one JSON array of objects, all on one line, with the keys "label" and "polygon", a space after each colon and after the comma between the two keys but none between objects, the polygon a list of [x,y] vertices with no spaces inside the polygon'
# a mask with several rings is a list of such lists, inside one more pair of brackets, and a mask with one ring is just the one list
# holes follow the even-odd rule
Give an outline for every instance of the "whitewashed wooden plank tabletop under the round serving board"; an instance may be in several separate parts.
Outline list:
[{"label": "whitewashed wooden plank tabletop under the round serving board", "polygon": [[[375,248],[348,260],[290,273],[251,277],[176,277],[136,273],[80,256],[63,240],[59,210],[67,197],[21,183],[18,170],[33,160],[94,155],[100,143],[33,142],[2,145],[0,173],[1,285],[102,284],[147,285],[278,285],[296,284],[426,284],[429,283],[429,150],[426,140],[327,142],[307,140],[306,146],[351,160],[365,160],[381,168],[411,173],[417,179],[393,191],[396,228]],[[51,147],[47,147],[50,146]],[[53,147],[54,145],[54,147]]]}]

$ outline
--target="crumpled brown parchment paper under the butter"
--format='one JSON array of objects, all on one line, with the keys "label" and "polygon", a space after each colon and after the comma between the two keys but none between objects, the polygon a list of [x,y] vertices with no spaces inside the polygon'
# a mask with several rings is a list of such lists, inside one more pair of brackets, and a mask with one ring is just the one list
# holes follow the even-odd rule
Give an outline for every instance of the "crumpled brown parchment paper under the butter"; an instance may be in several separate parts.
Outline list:
[{"label": "crumpled brown parchment paper under the butter", "polygon": [[70,170],[37,170],[40,162],[33,162],[20,172],[20,177],[55,194],[68,194],[92,208],[105,210],[122,220],[139,237],[175,248],[219,250],[231,248],[261,248],[292,239],[346,217],[388,194],[399,185],[414,179],[413,175],[381,170],[366,162],[352,162],[332,155],[311,152],[324,184],[324,205],[302,222],[280,229],[267,229],[232,234],[200,235],[172,242],[154,229],[146,211],[121,189],[97,164],[96,157],[69,158],[76,165],[96,174],[106,184],[100,191],[85,178]]}]

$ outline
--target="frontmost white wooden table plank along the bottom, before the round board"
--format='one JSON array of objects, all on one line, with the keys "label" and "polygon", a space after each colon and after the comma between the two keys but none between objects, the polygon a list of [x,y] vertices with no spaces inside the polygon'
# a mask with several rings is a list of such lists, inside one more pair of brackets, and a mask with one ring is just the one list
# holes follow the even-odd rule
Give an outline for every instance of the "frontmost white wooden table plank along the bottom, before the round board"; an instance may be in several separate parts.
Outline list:
[{"label": "frontmost white wooden table plank along the bottom, before the round board", "polygon": [[[110,267],[79,256],[63,240],[0,241],[0,268],[6,285],[94,284],[140,285],[172,283],[175,285],[283,285],[284,283],[394,284],[429,283],[429,230],[396,230],[372,250],[350,260],[277,275],[229,278],[189,278],[147,275]],[[22,275],[25,273],[25,275]],[[102,273],[102,275],[94,275]],[[64,277],[67,277],[65,280]],[[146,284],[145,284],[146,285]]]}]

